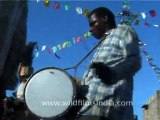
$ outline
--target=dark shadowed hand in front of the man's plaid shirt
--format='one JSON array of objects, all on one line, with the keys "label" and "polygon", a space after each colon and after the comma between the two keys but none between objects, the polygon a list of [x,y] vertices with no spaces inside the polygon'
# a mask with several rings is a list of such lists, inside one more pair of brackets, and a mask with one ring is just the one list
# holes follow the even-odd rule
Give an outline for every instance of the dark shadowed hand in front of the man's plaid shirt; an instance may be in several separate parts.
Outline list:
[{"label": "dark shadowed hand in front of the man's plaid shirt", "polygon": [[113,84],[113,80],[111,78],[111,70],[108,66],[106,66],[102,62],[92,63],[90,68],[95,69],[96,75],[104,82],[105,84]]}]

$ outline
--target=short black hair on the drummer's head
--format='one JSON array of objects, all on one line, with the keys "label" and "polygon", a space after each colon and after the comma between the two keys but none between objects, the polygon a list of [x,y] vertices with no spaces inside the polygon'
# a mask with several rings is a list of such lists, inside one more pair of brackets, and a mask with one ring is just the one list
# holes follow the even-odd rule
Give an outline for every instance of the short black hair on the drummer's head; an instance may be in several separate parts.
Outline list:
[{"label": "short black hair on the drummer's head", "polygon": [[93,14],[95,14],[97,17],[104,17],[107,15],[108,22],[114,26],[116,25],[114,13],[106,7],[95,8],[88,14],[88,18],[90,18]]}]

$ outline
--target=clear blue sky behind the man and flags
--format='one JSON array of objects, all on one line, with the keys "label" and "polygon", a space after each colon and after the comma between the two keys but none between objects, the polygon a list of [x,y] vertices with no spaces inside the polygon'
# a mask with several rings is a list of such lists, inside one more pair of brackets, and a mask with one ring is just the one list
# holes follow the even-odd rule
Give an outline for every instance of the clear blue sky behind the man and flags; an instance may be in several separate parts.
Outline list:
[{"label": "clear blue sky behind the man and flags", "polygon": [[[59,1],[60,8],[54,9],[54,1],[51,1],[49,7],[44,7],[43,2],[30,1],[27,23],[27,41],[36,41],[39,49],[46,45],[52,48],[55,45],[62,44],[65,41],[73,40],[73,38],[82,37],[80,43],[72,43],[71,47],[63,48],[57,51],[57,58],[53,53],[48,53],[47,50],[40,51],[38,57],[33,60],[35,72],[45,67],[57,67],[64,69],[77,64],[84,55],[86,55],[98,42],[92,36],[89,39],[84,39],[83,35],[88,31],[87,18],[82,14],[77,14],[76,7],[92,10],[96,7],[104,6],[111,9],[115,14],[122,10],[122,1]],[[145,50],[154,58],[153,63],[160,65],[160,28],[154,27],[153,24],[160,25],[160,1],[130,1],[133,13],[146,12],[146,20],[151,24],[150,27],[144,25],[144,21],[139,16],[140,24],[133,25],[139,38],[146,43]],[[65,10],[64,6],[70,5],[69,10]],[[157,16],[151,17],[149,10],[156,10]],[[117,19],[117,23],[120,19]],[[82,77],[87,63],[92,58],[92,55],[78,67],[77,77]],[[142,68],[136,74],[134,80],[134,112],[138,115],[139,120],[142,120],[141,106],[159,89],[159,81],[157,74],[148,64],[145,56],[142,54]],[[73,70],[67,71],[74,75]],[[44,86],[47,87],[47,86]]]}]

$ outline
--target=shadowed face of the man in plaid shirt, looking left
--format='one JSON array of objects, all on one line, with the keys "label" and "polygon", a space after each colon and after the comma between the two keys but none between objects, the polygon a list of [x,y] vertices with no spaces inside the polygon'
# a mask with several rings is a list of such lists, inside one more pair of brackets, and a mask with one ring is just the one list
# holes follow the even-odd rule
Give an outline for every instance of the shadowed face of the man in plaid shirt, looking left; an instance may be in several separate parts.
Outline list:
[{"label": "shadowed face of the man in plaid shirt, looking left", "polygon": [[105,19],[97,17],[95,14],[92,14],[88,19],[90,32],[96,39],[101,39],[106,32]]}]

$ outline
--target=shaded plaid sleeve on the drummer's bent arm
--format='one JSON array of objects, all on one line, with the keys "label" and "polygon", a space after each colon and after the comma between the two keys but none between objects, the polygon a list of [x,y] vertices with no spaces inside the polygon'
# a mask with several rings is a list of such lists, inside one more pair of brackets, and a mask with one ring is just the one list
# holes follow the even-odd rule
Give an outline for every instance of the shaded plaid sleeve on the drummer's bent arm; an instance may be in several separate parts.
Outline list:
[{"label": "shaded plaid sleeve on the drummer's bent arm", "polygon": [[134,74],[141,68],[141,56],[139,50],[139,39],[133,28],[126,27],[123,36],[124,40],[120,41],[123,46],[124,59],[110,67],[112,71],[113,80],[121,80],[134,76]]}]

